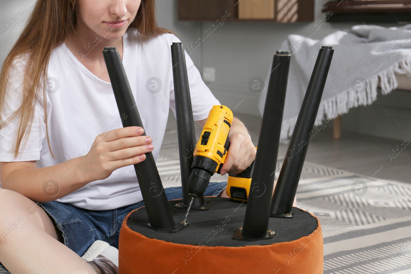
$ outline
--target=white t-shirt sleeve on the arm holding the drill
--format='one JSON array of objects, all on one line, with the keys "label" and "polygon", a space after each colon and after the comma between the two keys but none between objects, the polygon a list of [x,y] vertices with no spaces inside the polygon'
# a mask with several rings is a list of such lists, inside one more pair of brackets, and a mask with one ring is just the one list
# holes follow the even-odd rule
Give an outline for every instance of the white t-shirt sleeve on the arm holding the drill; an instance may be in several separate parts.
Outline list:
[{"label": "white t-shirt sleeve on the arm holding the drill", "polygon": [[[174,35],[173,35],[174,36]],[[172,42],[180,42],[180,39],[173,37]],[[170,43],[171,44],[171,43]],[[187,76],[189,81],[191,104],[193,108],[194,121],[207,119],[213,105],[219,105],[220,102],[211,93],[210,89],[205,85],[199,70],[194,66],[190,56],[184,50],[185,62],[187,66]],[[174,99],[174,85],[171,83],[170,92],[170,107],[175,116],[175,99]]]}]

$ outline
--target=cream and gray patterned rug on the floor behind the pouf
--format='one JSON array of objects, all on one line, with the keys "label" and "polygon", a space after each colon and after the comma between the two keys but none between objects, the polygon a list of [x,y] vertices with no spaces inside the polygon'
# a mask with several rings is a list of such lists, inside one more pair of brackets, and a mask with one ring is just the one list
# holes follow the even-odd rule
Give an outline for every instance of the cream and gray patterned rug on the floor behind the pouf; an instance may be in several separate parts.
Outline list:
[{"label": "cream and gray patterned rug on the floor behind the pouf", "polygon": [[[177,131],[168,131],[157,161],[164,187],[181,185],[179,163]],[[411,273],[411,184],[305,162],[297,205],[320,220],[324,274]],[[298,251],[284,260],[293,256]]]}]

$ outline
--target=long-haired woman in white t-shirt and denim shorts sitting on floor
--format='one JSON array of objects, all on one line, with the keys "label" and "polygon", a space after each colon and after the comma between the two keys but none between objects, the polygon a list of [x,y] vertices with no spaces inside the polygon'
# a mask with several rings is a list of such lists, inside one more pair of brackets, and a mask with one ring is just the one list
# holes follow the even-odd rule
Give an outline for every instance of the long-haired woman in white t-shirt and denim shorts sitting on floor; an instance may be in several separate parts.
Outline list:
[{"label": "long-haired woman in white t-shirt and denim shorts sitting on floor", "polygon": [[[150,151],[157,160],[169,107],[175,115],[170,45],[178,41],[157,27],[154,0],[36,2],[0,76],[0,262],[11,273],[101,271],[80,256],[96,240],[118,247],[122,219],[143,205],[133,164]],[[147,136],[121,126],[105,46],[122,57]],[[186,62],[203,126],[220,103]],[[256,153],[236,118],[229,139],[222,175]],[[210,184],[205,195],[224,188]],[[181,188],[165,191],[181,198]]]}]

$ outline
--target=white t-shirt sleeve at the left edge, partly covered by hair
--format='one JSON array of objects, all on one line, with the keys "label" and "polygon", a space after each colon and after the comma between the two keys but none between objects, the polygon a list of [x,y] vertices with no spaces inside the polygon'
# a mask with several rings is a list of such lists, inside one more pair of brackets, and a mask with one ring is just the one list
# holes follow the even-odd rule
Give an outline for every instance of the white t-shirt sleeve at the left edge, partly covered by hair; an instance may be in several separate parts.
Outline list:
[{"label": "white t-shirt sleeve at the left edge, partly covered by hair", "polygon": [[[5,92],[5,101],[2,108],[0,122],[8,120],[0,131],[0,161],[34,161],[40,159],[40,151],[45,137],[43,97],[36,97],[35,103],[29,108],[34,108],[34,117],[31,128],[26,129],[19,147],[19,154],[14,158],[14,148],[20,127],[22,114],[18,113],[9,120],[23,101],[23,75],[24,62],[21,59],[14,61],[10,70],[9,82]],[[30,121],[29,121],[30,122]],[[30,123],[29,123],[30,124]],[[29,134],[30,132],[30,134]]]}]

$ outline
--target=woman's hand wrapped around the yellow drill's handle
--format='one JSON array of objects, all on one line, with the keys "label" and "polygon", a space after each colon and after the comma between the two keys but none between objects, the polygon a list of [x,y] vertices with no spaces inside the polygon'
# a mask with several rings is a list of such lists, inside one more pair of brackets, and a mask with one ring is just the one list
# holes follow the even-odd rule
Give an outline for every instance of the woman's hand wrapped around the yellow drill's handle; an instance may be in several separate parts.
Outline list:
[{"label": "woman's hand wrapped around the yellow drill's handle", "polygon": [[[244,127],[242,122],[240,123],[242,127]],[[241,129],[241,127],[239,129]],[[220,170],[221,175],[224,175],[226,173],[240,173],[241,171],[245,170],[256,157],[257,150],[251,140],[250,135],[247,132],[247,129],[245,129],[245,132],[231,132],[232,130],[233,126],[230,129],[230,147],[228,150],[227,158]]]}]

